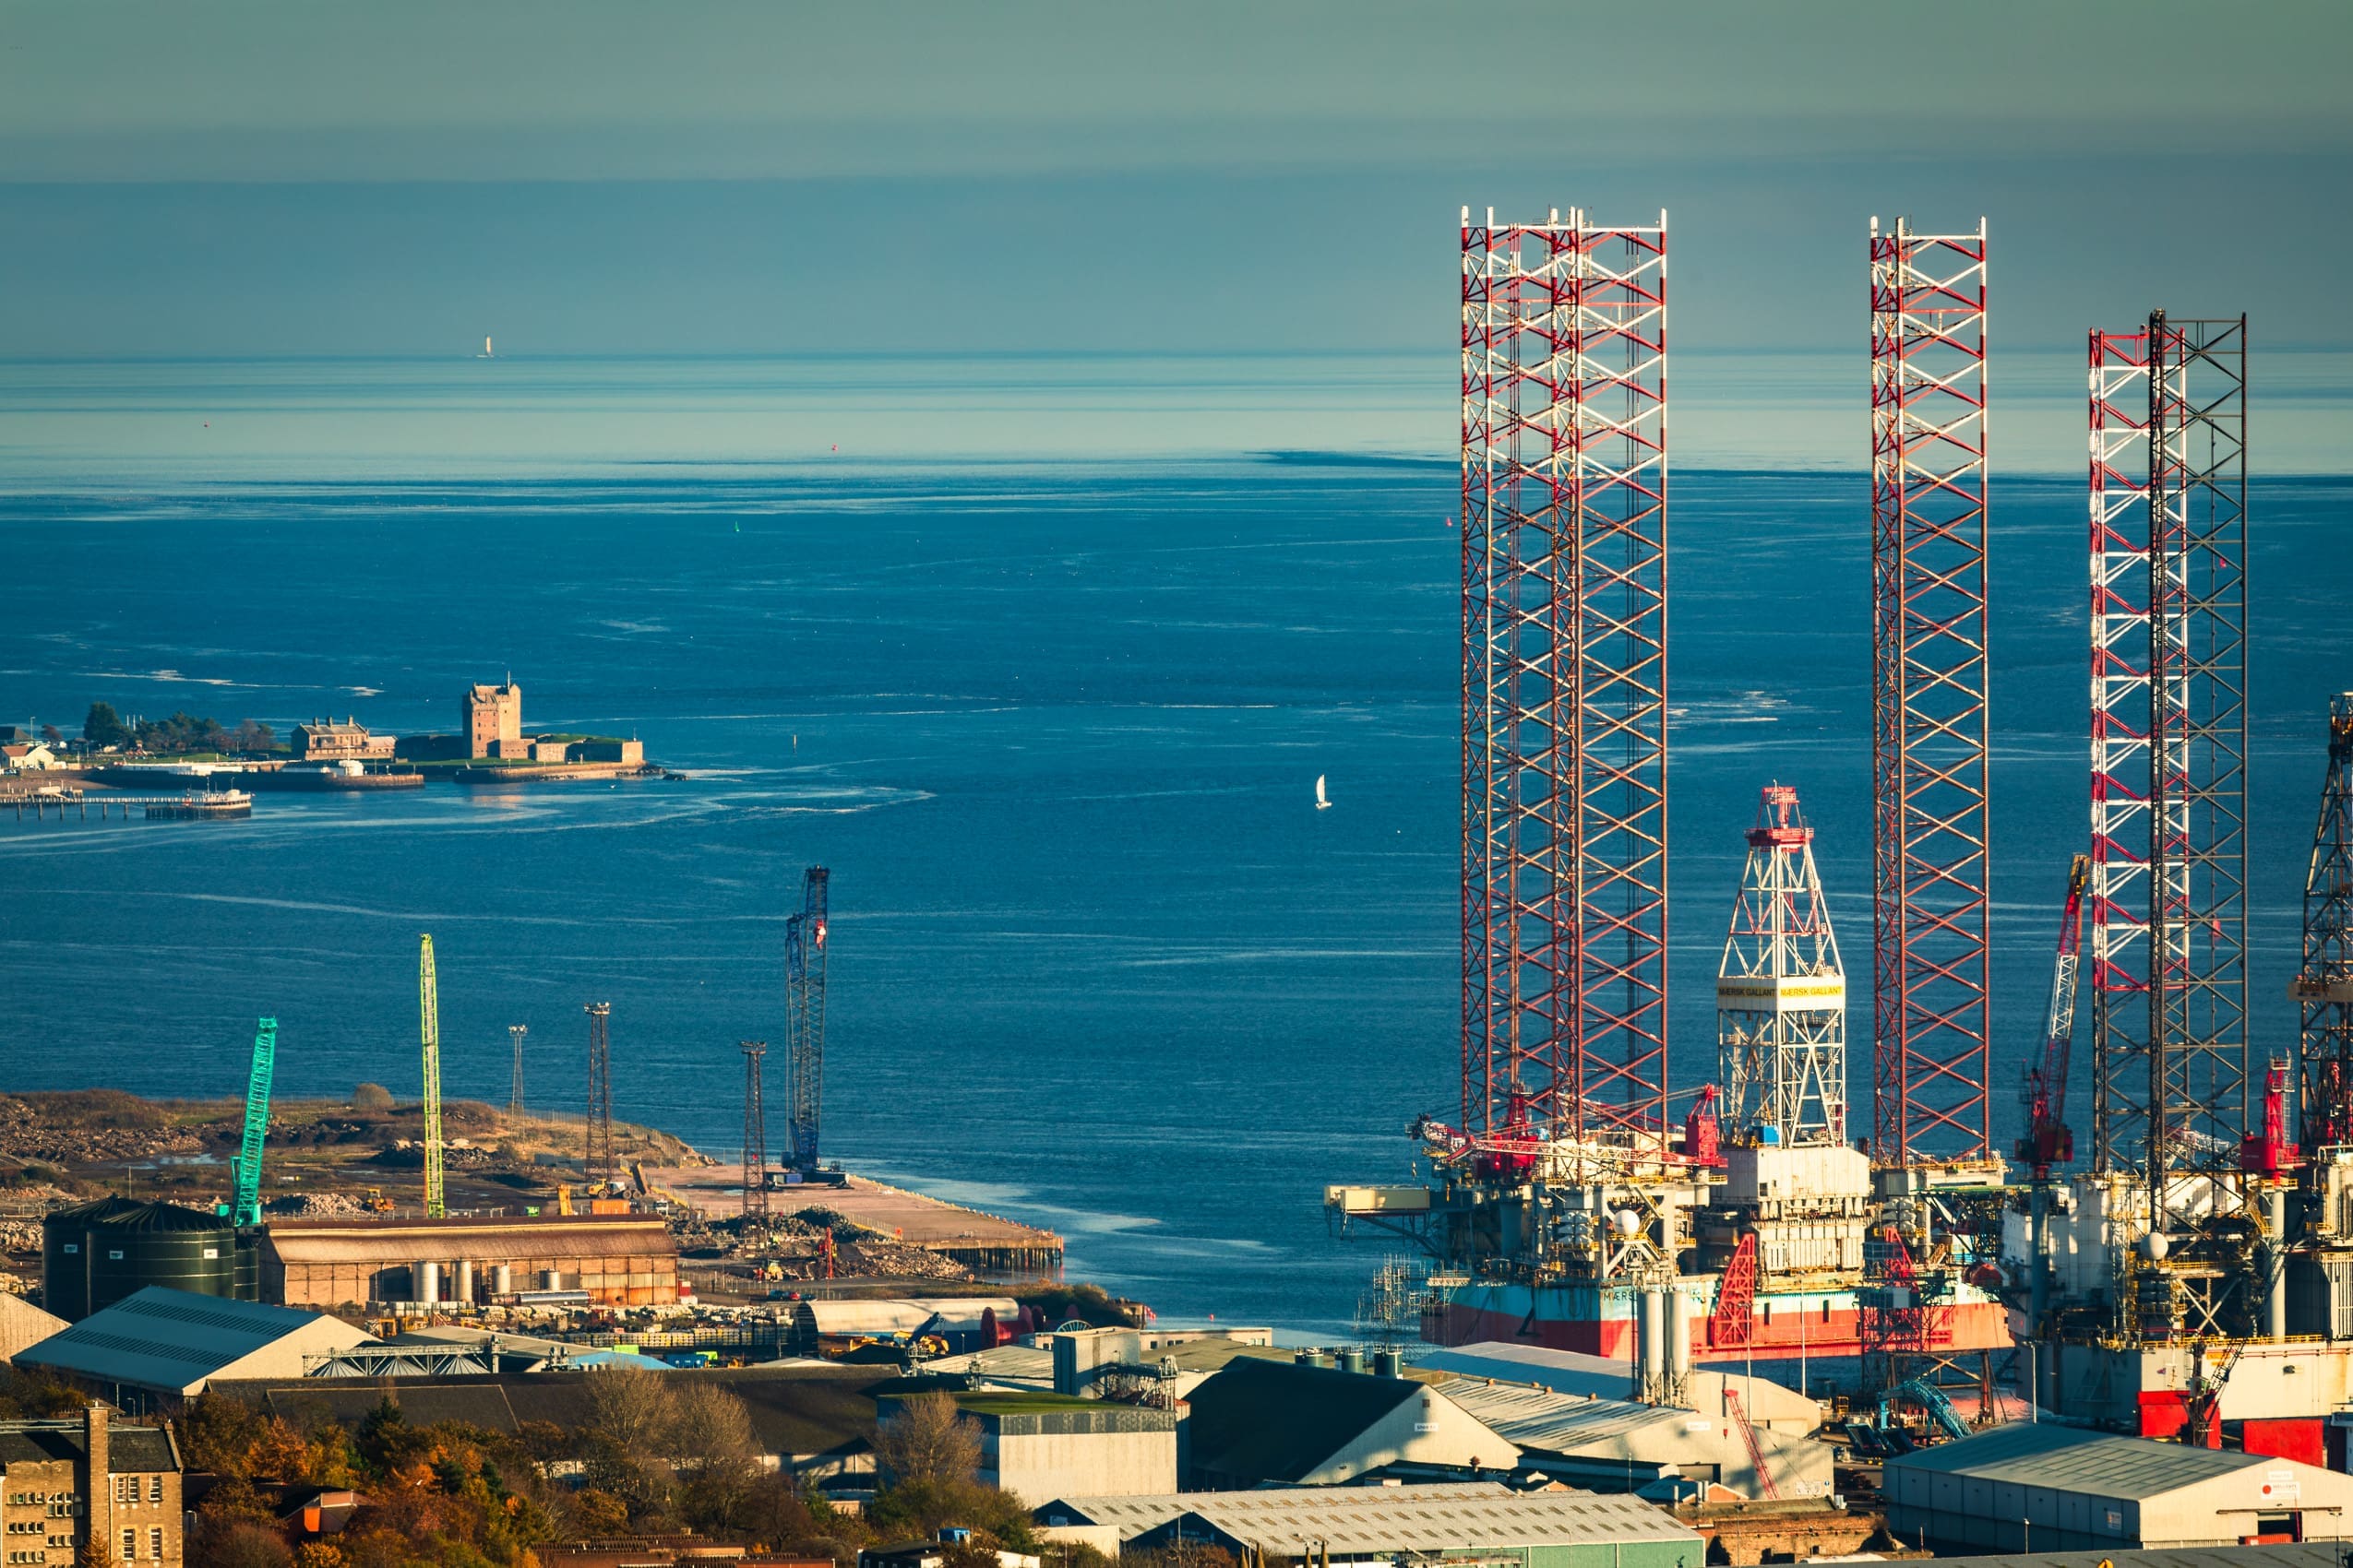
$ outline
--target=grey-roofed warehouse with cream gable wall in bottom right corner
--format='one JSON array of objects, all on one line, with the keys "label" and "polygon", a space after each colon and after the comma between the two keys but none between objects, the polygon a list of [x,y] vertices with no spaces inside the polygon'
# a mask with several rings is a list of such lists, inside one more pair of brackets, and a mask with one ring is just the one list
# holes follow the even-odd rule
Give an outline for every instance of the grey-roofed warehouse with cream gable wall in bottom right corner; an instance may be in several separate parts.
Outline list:
[{"label": "grey-roofed warehouse with cream gable wall in bottom right corner", "polygon": [[1887,1460],[1887,1528],[1958,1554],[2231,1547],[2353,1533],[2353,1476],[2080,1427],[2009,1425]]}]

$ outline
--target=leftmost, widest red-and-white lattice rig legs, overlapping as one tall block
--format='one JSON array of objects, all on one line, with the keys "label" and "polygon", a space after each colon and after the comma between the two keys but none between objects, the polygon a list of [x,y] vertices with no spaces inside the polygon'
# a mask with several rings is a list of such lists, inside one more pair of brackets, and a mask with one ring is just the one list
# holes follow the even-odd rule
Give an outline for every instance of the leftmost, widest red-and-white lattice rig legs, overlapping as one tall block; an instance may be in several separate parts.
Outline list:
[{"label": "leftmost, widest red-and-white lattice rig legs, overlapping as one tall block", "polygon": [[1464,209],[1464,1126],[1666,1128],[1666,214]]}]

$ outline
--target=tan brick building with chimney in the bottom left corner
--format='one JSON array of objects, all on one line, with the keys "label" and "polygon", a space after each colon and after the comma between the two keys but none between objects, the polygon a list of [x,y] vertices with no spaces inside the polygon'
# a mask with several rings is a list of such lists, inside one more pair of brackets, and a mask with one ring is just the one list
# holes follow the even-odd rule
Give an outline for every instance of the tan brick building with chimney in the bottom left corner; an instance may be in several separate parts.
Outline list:
[{"label": "tan brick building with chimney in the bottom left corner", "polygon": [[125,1568],[181,1563],[179,1441],[118,1427],[101,1403],[80,1420],[0,1422],[0,1547],[14,1568],[68,1568],[104,1540]]}]

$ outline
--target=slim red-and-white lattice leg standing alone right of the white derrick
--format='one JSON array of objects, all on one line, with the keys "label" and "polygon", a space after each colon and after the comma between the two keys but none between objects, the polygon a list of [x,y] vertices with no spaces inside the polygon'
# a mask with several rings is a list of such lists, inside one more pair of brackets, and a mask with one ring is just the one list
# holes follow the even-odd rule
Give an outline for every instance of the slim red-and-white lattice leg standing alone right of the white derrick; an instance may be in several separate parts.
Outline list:
[{"label": "slim red-and-white lattice leg standing alone right of the white derrick", "polygon": [[1986,226],[1871,221],[1873,1159],[1988,1159]]}]

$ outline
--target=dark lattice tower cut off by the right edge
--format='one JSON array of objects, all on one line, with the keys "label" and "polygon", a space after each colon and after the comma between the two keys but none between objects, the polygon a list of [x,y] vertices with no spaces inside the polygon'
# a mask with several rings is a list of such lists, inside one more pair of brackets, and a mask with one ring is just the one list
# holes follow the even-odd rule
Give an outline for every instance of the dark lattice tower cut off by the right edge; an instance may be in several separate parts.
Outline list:
[{"label": "dark lattice tower cut off by the right edge", "polygon": [[2353,691],[2329,698],[2329,771],[2304,875],[2304,1143],[2353,1143]]}]

